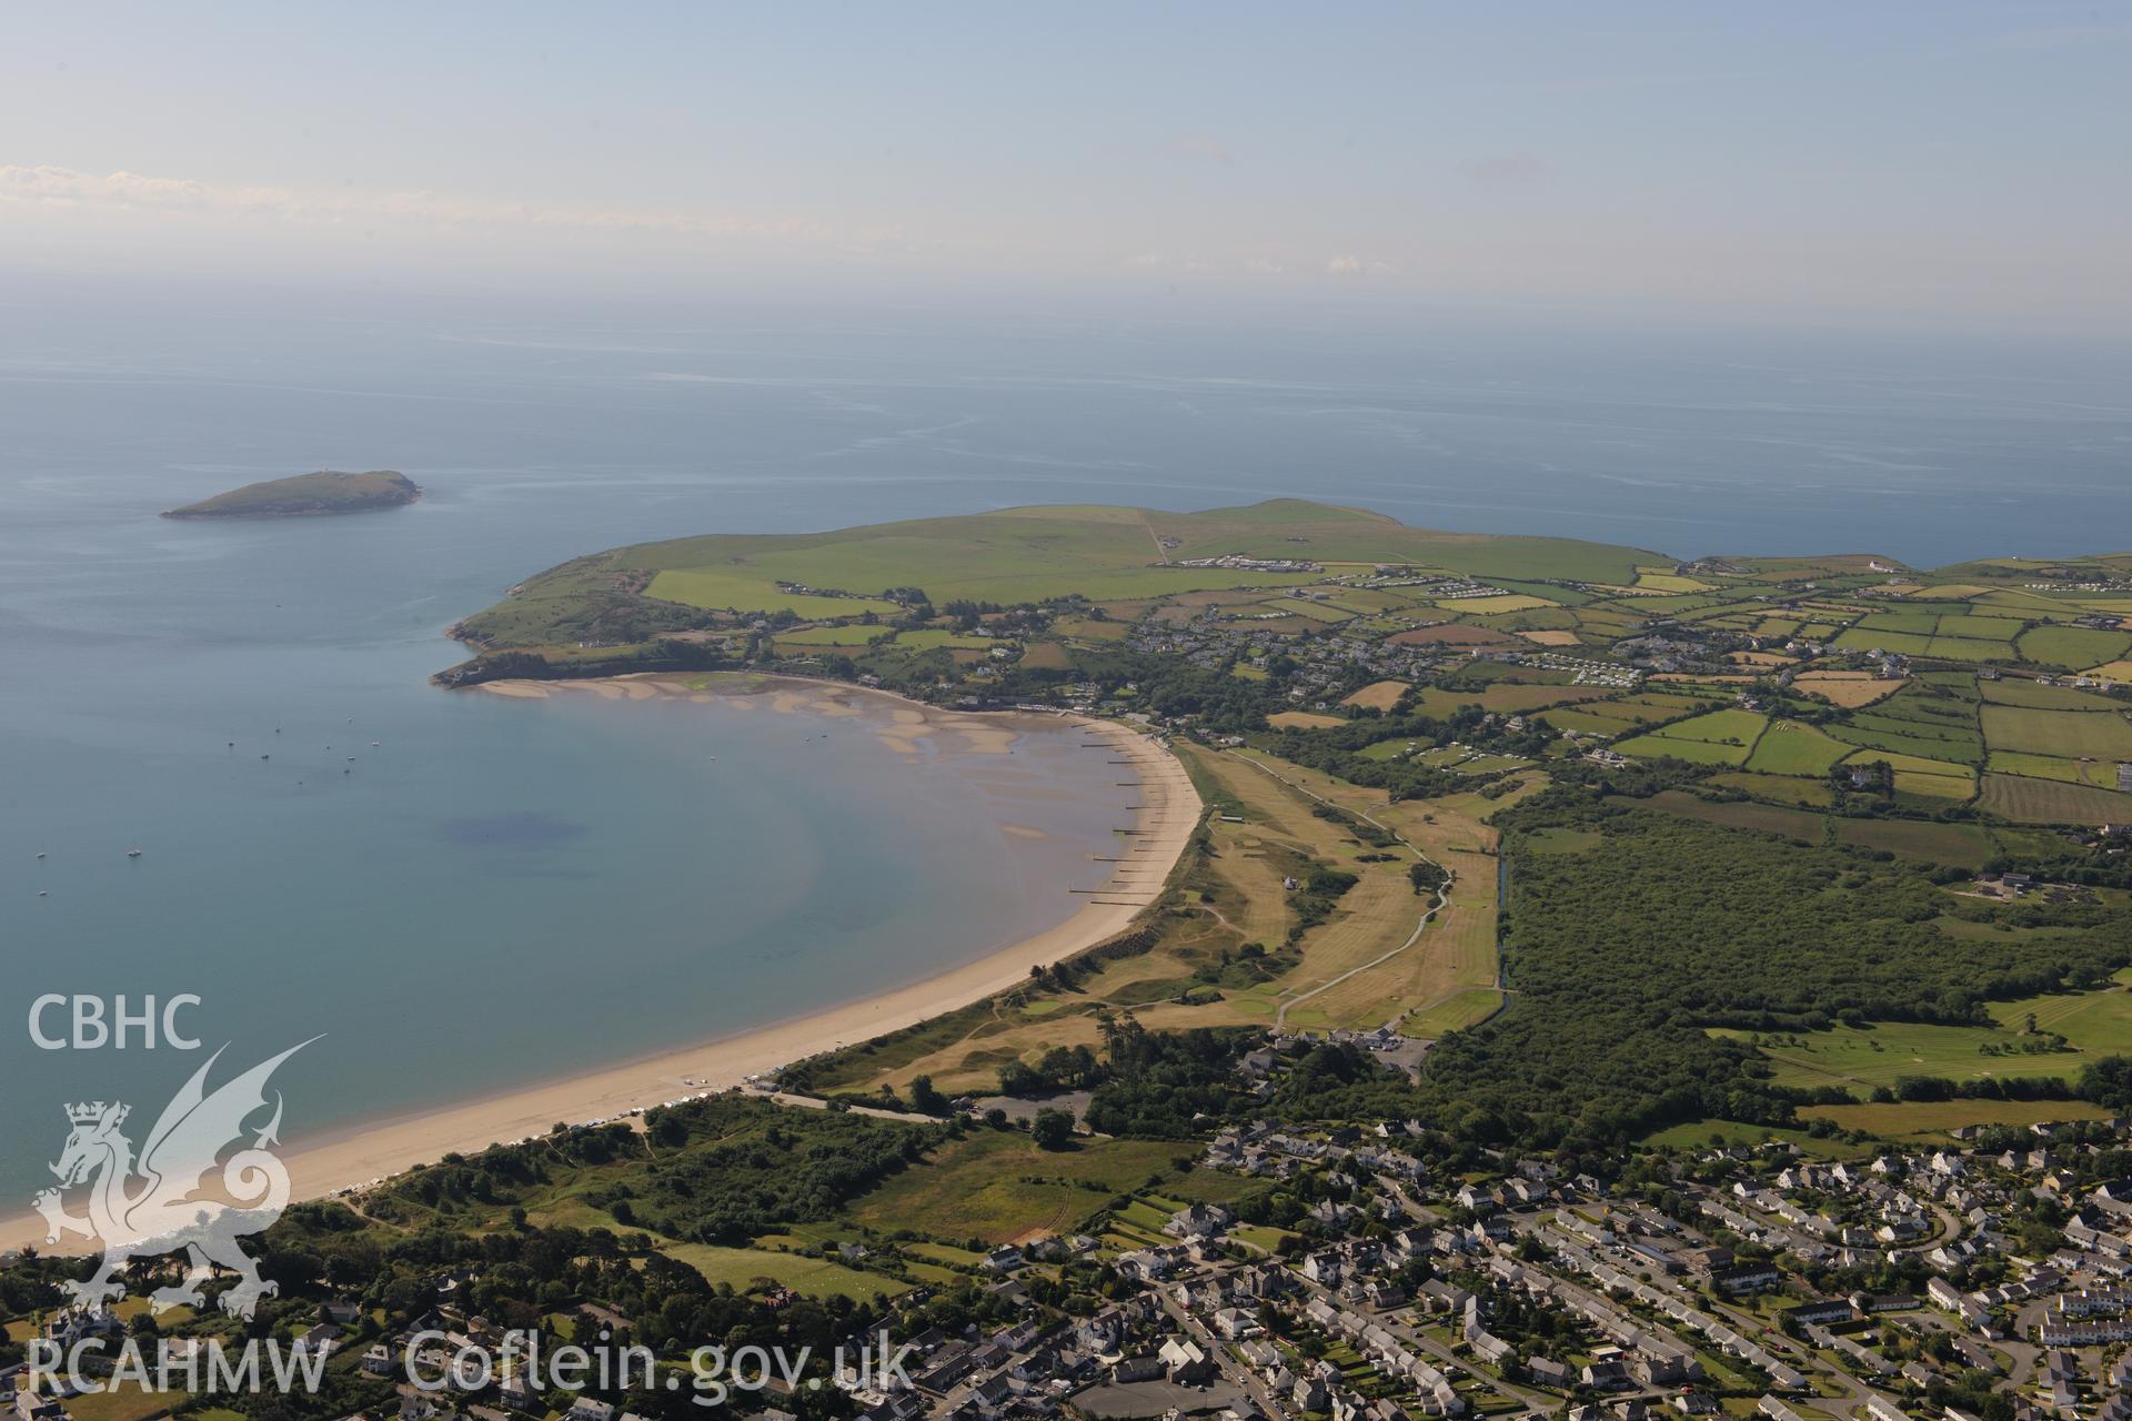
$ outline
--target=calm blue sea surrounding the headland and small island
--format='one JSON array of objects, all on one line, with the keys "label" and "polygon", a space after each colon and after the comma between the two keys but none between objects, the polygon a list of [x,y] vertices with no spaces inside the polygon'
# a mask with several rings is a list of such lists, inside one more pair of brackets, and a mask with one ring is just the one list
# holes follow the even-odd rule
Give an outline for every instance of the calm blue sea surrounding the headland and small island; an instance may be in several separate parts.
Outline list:
[{"label": "calm blue sea surrounding the headland and small island", "polygon": [[[580,552],[1277,494],[1676,556],[2132,545],[2121,349],[356,298],[0,317],[0,1214],[62,1101],[160,1106],[196,1063],[36,1050],[41,993],[192,991],[239,1057],[328,1033],[288,1067],[303,1138],[915,980],[1072,908],[1025,884],[1081,871],[1130,793],[1070,737],[1017,746],[1032,801],[859,724],[424,682],[454,618]],[[318,467],[429,494],[156,518]]]}]

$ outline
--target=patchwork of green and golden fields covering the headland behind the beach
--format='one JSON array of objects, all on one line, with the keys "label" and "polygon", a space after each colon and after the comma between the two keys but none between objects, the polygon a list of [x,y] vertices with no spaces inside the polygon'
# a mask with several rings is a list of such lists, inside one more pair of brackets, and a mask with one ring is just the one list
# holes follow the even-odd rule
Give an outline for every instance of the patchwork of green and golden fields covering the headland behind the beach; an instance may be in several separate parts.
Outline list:
[{"label": "patchwork of green and golden fields covering the headland behind the beach", "polygon": [[[1520,997],[1501,1010],[1488,824],[1550,784],[1659,810],[1642,820],[1667,824],[1654,833],[1699,820],[1776,835],[1840,878],[1900,859],[1938,893],[2042,861],[2057,882],[2121,884],[2106,827],[2132,824],[2128,584],[2123,554],[1676,562],[1301,501],[1083,505],[620,548],[529,579],[458,635],[482,652],[473,680],[505,654],[499,675],[667,658],[1170,733],[1220,814],[1149,918],[1151,946],[842,1052],[823,1082],[976,1089],[1004,1063],[1094,1044],[1124,1012],[1507,1031]],[[1454,873],[1450,908],[1420,931],[1416,852]],[[2023,1012],[1761,1050],[1778,1082],[1861,1097],[1925,1072],[2053,1078],[2106,1050],[2117,1006],[2053,1027],[2055,1006],[2030,1003],[2036,1031]],[[1497,1027],[1456,1035],[1484,1020]],[[2064,1044],[2042,1048],[2053,1031]]]}]

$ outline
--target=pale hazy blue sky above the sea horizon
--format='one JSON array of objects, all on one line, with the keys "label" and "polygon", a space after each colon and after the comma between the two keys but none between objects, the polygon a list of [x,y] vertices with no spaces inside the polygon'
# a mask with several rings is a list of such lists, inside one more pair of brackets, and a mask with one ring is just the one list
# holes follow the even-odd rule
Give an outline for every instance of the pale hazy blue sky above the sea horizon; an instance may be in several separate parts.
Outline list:
[{"label": "pale hazy blue sky above the sea horizon", "polygon": [[96,4],[0,279],[1190,292],[2132,334],[2132,4]]}]

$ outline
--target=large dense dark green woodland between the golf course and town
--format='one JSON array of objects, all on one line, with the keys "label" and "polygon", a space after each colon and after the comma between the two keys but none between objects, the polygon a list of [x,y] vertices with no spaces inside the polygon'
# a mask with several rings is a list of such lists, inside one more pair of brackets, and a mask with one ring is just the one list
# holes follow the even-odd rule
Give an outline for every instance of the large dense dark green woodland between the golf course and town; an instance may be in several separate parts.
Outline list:
[{"label": "large dense dark green woodland between the golf course and town", "polygon": [[[1942,916],[1959,899],[1925,865],[1866,850],[1808,848],[1582,788],[1550,790],[1497,822],[1516,863],[1507,1010],[1437,1042],[1418,1082],[1369,1052],[1318,1050],[1281,1082],[1279,1110],[1420,1116],[1467,1142],[1571,1153],[1706,1116],[1789,1123],[1806,1093],[1774,1087],[1753,1044],[1708,1027],[1983,1023],[1985,1001],[2094,984],[2132,961],[2132,914],[2104,903],[2025,905],[2025,920],[2060,929],[2051,935],[1955,937]],[[1520,852],[1522,835],[1548,827],[1601,842]],[[2081,1095],[2132,1108],[2132,1065],[2089,1074]]]}]

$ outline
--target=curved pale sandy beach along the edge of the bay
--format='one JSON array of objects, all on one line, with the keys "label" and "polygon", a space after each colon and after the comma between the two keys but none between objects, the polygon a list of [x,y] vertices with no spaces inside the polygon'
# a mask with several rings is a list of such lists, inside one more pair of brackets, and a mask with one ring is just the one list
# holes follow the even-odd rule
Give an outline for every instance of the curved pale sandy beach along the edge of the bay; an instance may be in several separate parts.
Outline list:
[{"label": "curved pale sandy beach along the edge of the bay", "polygon": [[[729,684],[689,675],[492,682],[461,695],[516,699],[556,695],[687,697],[757,705],[765,714],[863,716],[872,722],[876,737],[898,754],[917,754],[919,744],[927,737],[942,737],[976,754],[1006,754],[1017,731],[1038,718],[1034,712],[947,712],[881,690],[797,677],[736,677]],[[1062,961],[1126,931],[1183,854],[1202,814],[1198,793],[1183,765],[1147,735],[1109,720],[1077,716],[1043,716],[1043,720],[1053,724],[1066,720],[1079,726],[1089,741],[1102,741],[1111,750],[1107,769],[1115,771],[1119,780],[1136,780],[1141,786],[1134,831],[1119,839],[1121,846],[1115,850],[1119,861],[1111,865],[1109,880],[1096,893],[1085,895],[1079,912],[1064,922],[1034,937],[998,946],[951,971],[874,997],[802,1012],[776,1025],[642,1057],[625,1065],[529,1084],[486,1099],[371,1121],[358,1129],[307,1140],[284,1153],[296,1197],[311,1199],[356,1189],[450,1153],[475,1153],[490,1144],[539,1136],[556,1123],[612,1118],[678,1097],[738,1087],[819,1050],[895,1031],[1006,991],[1023,982],[1030,967]],[[1000,831],[1006,835],[1038,833],[1025,824],[1008,822],[1002,822]],[[535,1072],[537,1065],[529,1063],[529,1074]],[[81,1246],[81,1242],[79,1238],[68,1240],[72,1246]],[[34,1214],[0,1221],[0,1251],[19,1246],[45,1246],[45,1225]]]}]

